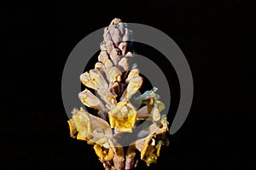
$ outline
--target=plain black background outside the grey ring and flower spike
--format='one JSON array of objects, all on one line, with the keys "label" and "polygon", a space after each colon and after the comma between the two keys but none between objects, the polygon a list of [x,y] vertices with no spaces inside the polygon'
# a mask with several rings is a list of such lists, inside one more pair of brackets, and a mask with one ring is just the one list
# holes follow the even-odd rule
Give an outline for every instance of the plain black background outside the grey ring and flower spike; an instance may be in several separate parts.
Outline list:
[{"label": "plain black background outside the grey ring and flower spike", "polygon": [[183,127],[156,165],[139,169],[256,168],[255,1],[22,1],[1,8],[1,169],[102,169],[90,145],[69,137],[61,74],[75,45],[114,17],[172,37],[195,83]]}]

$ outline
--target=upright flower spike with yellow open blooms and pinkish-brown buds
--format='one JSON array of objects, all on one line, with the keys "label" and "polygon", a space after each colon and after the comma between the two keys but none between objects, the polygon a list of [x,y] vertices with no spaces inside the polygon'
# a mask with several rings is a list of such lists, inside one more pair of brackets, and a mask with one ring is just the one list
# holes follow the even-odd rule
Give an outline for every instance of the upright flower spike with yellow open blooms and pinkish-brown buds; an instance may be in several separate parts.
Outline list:
[{"label": "upright flower spike with yellow open blooms and pinkish-brown buds", "polygon": [[[79,99],[84,105],[96,109],[98,115],[91,115],[83,108],[73,109],[73,117],[68,121],[70,135],[94,144],[96,155],[106,169],[135,168],[137,151],[140,151],[141,160],[149,166],[160,156],[161,145],[168,144],[168,122],[166,116],[160,114],[165,105],[155,93],[157,88],[146,91],[136,99],[143,107],[136,108],[131,103],[131,97],[143,84],[139,70],[128,64],[128,59],[133,56],[127,51],[131,33],[119,19],[114,19],[105,29],[102,51],[95,68],[80,76],[81,82],[96,90],[99,98],[85,89],[79,93]],[[140,120],[151,124],[137,132]],[[119,136],[125,133],[136,136],[127,145],[127,150],[119,142]]]}]

